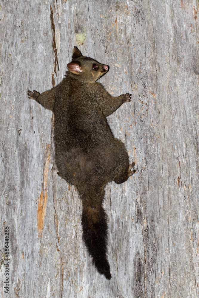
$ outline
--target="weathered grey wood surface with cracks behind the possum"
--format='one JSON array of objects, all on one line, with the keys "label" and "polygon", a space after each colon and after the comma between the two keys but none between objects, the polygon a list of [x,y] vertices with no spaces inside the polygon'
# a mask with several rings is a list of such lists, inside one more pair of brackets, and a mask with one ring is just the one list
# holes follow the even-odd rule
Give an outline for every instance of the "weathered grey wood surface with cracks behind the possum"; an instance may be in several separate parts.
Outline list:
[{"label": "weathered grey wood surface with cracks behind the possum", "polygon": [[[1,297],[199,297],[199,2],[188,2],[1,1]],[[137,163],[106,188],[110,281],[53,166],[52,112],[27,98],[52,88],[52,73],[61,81],[74,45],[109,64],[111,94],[132,93],[108,118]]]}]

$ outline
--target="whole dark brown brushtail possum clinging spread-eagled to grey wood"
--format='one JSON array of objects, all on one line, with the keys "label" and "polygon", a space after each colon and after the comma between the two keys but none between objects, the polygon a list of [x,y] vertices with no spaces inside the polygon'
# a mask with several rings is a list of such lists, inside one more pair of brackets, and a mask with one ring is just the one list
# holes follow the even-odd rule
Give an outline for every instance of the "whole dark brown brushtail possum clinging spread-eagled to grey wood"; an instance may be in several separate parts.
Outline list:
[{"label": "whole dark brown brushtail possum clinging spread-eagled to grey wood", "polygon": [[106,117],[129,102],[131,94],[111,96],[96,82],[109,66],[82,56],[76,46],[67,67],[55,88],[41,94],[28,91],[28,96],[54,113],[58,175],[78,190],[84,242],[98,272],[110,280],[104,188],[112,180],[126,181],[135,173],[135,162],[129,164],[127,150],[114,138]]}]

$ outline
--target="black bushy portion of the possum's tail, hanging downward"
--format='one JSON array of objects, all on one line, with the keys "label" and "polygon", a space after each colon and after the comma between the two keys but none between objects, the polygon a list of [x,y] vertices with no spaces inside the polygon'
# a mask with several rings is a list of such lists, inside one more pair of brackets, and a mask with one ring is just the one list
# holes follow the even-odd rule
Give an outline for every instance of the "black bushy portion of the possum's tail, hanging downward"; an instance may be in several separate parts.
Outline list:
[{"label": "black bushy portion of the possum's tail, hanging downward", "polygon": [[103,207],[94,203],[93,206],[85,204],[81,216],[83,239],[92,256],[93,264],[100,274],[110,280],[110,266],[107,258],[107,216]]}]

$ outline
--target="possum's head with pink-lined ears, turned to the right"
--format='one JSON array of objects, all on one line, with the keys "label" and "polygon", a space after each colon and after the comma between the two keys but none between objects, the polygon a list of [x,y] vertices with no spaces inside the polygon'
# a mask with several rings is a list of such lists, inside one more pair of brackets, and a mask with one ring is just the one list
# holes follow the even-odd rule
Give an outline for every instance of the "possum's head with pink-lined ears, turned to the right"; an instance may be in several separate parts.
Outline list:
[{"label": "possum's head with pink-lined ears, turned to the right", "polygon": [[101,76],[109,71],[109,66],[98,61],[82,56],[80,50],[74,46],[72,53],[72,62],[67,64],[71,73],[77,75],[86,83],[94,83]]}]

